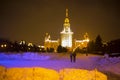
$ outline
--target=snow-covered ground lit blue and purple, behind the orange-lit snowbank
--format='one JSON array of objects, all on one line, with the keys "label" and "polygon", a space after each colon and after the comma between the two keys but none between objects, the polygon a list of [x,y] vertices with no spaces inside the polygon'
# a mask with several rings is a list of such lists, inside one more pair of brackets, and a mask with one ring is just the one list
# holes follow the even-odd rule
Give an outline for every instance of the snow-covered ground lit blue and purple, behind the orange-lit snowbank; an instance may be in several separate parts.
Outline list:
[{"label": "snow-covered ground lit blue and purple, behind the orange-lit snowbank", "polygon": [[[59,53],[22,53],[5,54],[0,53],[0,65],[6,68],[13,67],[43,67],[60,71],[64,68],[87,69],[101,71],[109,76],[117,75],[120,78],[120,57],[104,57],[98,55],[77,54],[75,63],[70,62],[69,54]],[[113,76],[113,79],[119,80]],[[111,78],[111,77],[110,77]]]}]

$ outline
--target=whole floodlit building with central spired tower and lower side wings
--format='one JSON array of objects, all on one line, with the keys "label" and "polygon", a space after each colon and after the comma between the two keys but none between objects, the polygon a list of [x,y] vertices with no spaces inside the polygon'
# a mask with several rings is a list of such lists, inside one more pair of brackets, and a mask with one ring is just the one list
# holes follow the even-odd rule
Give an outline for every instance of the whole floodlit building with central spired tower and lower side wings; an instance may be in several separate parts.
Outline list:
[{"label": "whole floodlit building with central spired tower and lower side wings", "polygon": [[50,34],[46,33],[44,47],[46,49],[54,48],[55,51],[57,50],[57,47],[59,45],[61,45],[62,47],[67,47],[68,49],[87,47],[87,43],[89,42],[89,36],[87,33],[85,33],[83,40],[73,39],[73,34],[74,33],[70,29],[68,9],[66,9],[66,18],[64,20],[63,30],[60,32],[61,38],[58,40],[51,40]]}]

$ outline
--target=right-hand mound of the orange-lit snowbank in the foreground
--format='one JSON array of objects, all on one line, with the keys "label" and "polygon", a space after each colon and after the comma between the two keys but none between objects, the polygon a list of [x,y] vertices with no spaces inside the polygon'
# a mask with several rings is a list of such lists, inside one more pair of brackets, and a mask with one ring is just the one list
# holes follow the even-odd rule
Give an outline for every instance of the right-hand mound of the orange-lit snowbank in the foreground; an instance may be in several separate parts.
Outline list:
[{"label": "right-hand mound of the orange-lit snowbank in the foreground", "polygon": [[107,76],[99,71],[83,69],[62,69],[60,70],[62,80],[107,80]]}]

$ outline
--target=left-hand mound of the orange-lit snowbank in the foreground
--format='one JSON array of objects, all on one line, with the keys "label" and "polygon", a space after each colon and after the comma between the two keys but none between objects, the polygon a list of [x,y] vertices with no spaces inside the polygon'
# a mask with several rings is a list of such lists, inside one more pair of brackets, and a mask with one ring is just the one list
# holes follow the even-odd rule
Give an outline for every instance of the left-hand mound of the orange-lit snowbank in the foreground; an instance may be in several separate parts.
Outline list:
[{"label": "left-hand mound of the orange-lit snowbank in the foreground", "polygon": [[46,68],[8,68],[0,80],[59,80],[59,74]]}]

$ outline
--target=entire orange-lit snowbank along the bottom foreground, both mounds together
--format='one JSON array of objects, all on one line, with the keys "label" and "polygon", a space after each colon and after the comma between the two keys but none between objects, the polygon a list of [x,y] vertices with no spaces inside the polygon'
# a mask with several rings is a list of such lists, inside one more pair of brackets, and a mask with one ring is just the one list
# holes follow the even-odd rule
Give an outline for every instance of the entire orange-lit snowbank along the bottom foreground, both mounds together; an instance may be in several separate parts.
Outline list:
[{"label": "entire orange-lit snowbank along the bottom foreground, both mounds together", "polygon": [[107,80],[107,76],[95,70],[65,68],[59,72],[41,68],[0,67],[0,80]]}]

